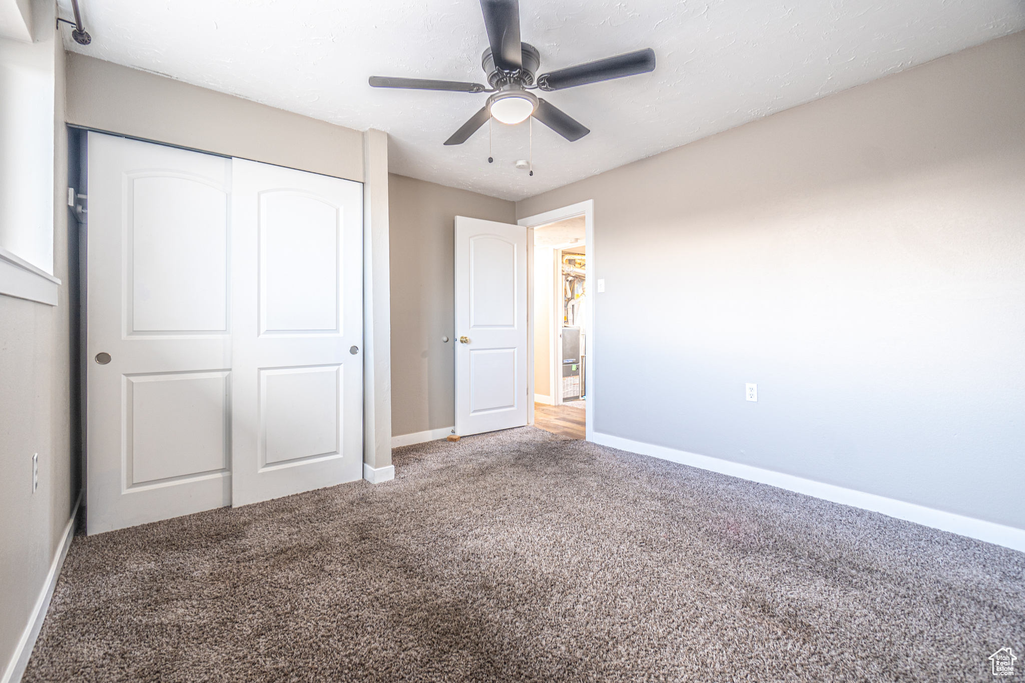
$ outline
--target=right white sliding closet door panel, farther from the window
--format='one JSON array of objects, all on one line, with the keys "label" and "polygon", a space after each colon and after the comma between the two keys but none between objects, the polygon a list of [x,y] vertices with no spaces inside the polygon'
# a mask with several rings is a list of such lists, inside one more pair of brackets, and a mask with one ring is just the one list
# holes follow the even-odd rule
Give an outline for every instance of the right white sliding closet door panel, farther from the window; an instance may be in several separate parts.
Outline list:
[{"label": "right white sliding closet door panel, farther from the window", "polygon": [[233,505],[363,476],[363,185],[235,159]]}]

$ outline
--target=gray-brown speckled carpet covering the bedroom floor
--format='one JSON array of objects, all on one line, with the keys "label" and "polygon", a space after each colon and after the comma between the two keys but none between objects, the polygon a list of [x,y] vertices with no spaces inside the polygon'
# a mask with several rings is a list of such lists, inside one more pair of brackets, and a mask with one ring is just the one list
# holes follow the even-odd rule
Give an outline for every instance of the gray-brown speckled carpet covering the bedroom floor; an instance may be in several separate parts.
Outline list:
[{"label": "gray-brown speckled carpet covering the bedroom floor", "polygon": [[531,427],[395,461],[76,538],[24,680],[933,683],[1025,645],[1012,550]]}]

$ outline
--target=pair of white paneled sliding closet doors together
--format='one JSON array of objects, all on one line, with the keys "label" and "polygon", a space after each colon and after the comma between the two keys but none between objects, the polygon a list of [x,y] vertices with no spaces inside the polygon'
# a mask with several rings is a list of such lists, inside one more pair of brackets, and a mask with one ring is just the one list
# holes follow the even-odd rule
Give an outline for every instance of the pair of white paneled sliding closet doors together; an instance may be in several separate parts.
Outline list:
[{"label": "pair of white paneled sliding closet doors together", "polygon": [[88,155],[88,532],[361,478],[362,185]]}]

